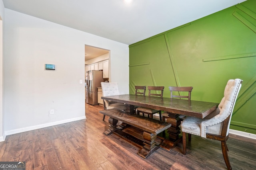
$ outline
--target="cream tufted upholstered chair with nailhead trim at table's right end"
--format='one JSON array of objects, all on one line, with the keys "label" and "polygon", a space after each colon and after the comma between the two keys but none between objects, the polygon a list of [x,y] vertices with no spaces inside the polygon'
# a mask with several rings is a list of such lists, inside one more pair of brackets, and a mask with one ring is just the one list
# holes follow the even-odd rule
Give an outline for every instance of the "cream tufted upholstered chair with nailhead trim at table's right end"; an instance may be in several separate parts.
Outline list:
[{"label": "cream tufted upholstered chair with nailhead trim at table's right end", "polygon": [[190,116],[185,117],[181,123],[183,154],[186,154],[186,133],[189,134],[189,141],[191,141],[191,134],[218,140],[221,141],[221,149],[226,166],[229,170],[232,169],[228,159],[226,141],[228,140],[232,112],[241,85],[242,80],[240,79],[228,80],[224,90],[224,97],[218,105],[218,108],[204,119]]}]

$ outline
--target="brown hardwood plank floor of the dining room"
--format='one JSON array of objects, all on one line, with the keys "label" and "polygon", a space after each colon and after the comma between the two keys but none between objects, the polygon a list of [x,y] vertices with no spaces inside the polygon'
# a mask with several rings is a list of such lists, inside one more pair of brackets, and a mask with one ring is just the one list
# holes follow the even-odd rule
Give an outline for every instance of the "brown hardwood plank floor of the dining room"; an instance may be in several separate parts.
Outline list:
[{"label": "brown hardwood plank floor of the dining room", "polygon": [[[86,104],[86,118],[9,135],[0,142],[0,161],[26,161],[26,170],[225,170],[219,141],[192,135],[187,154],[182,143],[158,149],[148,158],[115,135],[104,135],[108,117],[102,106]],[[256,170],[256,140],[231,135],[227,141],[233,170]]]}]

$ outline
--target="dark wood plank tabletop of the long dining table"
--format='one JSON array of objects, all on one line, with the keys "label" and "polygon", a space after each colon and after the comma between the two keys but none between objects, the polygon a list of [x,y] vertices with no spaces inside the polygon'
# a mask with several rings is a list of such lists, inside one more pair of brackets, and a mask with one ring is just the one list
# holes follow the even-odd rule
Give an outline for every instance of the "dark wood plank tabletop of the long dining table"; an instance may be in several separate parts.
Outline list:
[{"label": "dark wood plank tabletop of the long dining table", "polygon": [[141,95],[136,96],[134,94],[105,96],[102,97],[102,99],[125,103],[134,106],[158,109],[170,113],[198,117],[201,119],[209,115],[218,106],[218,103],[212,102],[202,102],[194,100],[191,100],[189,102],[188,100],[182,99],[159,98]]}]

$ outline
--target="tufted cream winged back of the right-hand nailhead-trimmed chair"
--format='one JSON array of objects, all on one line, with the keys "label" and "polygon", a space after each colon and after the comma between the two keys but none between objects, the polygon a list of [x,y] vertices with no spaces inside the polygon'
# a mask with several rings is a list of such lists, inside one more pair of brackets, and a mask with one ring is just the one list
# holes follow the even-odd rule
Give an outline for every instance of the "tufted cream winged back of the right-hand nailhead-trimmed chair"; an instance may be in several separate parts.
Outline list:
[{"label": "tufted cream winged back of the right-hand nailhead-trimmed chair", "polygon": [[[216,134],[222,137],[228,135],[232,113],[241,86],[242,80],[240,79],[228,80],[224,90],[224,97],[216,109],[219,113],[201,123],[202,137],[206,137],[205,133]],[[205,131],[203,129],[205,129]]]}]

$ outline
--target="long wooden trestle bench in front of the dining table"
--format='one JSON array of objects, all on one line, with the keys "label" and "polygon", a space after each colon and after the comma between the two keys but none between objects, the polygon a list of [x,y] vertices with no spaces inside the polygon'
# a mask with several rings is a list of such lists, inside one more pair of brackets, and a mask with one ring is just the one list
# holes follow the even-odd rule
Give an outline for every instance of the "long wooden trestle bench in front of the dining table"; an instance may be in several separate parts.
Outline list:
[{"label": "long wooden trestle bench in front of the dining table", "polygon": [[[123,138],[128,138],[134,144],[142,144],[142,149],[138,153],[143,158],[146,158],[159,148],[160,143],[156,141],[157,134],[171,127],[171,123],[143,117],[135,114],[128,114],[126,111],[118,109],[106,109],[100,111],[100,113],[109,116],[108,122],[110,123],[109,129],[104,132],[105,135],[115,133]],[[118,120],[123,123],[117,126]],[[135,130],[126,131],[125,128],[131,125],[135,127]],[[140,138],[139,132],[142,131],[142,137]]]}]

